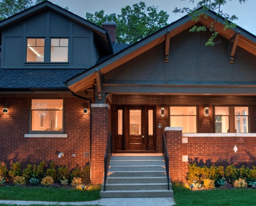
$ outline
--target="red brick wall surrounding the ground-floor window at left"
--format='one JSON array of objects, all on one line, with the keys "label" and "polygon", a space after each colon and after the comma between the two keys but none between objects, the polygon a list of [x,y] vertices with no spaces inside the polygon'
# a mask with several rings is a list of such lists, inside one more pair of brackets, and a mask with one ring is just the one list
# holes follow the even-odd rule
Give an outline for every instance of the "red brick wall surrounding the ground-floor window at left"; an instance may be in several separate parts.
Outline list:
[{"label": "red brick wall surrounding the ground-floor window at left", "polygon": [[[67,138],[24,138],[28,133],[29,105],[27,97],[2,97],[0,99],[0,162],[7,164],[21,162],[34,164],[40,161],[54,161],[56,165],[66,165],[69,169],[77,164],[85,165],[89,157],[89,114],[83,113],[85,100],[64,98],[64,133]],[[2,106],[7,105],[9,112],[3,113]],[[63,152],[64,158],[58,158]],[[71,154],[76,153],[72,158]]]}]

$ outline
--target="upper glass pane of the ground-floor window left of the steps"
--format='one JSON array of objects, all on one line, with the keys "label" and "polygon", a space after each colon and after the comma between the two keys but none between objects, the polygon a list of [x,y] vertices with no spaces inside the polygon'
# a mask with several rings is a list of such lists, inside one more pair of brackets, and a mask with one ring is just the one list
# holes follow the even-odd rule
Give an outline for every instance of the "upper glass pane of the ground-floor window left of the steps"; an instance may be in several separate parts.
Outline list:
[{"label": "upper glass pane of the ground-floor window left of the steps", "polygon": [[63,99],[32,99],[33,110],[63,110]]}]

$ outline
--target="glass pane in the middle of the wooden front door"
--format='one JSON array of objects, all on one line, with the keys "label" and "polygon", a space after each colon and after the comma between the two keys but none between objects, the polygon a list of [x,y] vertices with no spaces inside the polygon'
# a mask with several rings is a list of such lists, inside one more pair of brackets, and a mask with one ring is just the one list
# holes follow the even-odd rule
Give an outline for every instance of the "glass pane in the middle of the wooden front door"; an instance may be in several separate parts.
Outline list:
[{"label": "glass pane in the middle of the wooden front door", "polygon": [[130,135],[141,135],[141,110],[130,110]]}]

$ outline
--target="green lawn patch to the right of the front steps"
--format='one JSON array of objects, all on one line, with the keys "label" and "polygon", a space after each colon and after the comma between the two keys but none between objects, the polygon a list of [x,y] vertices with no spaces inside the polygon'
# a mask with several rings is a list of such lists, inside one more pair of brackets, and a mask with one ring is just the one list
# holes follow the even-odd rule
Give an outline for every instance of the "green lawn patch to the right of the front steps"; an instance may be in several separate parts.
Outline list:
[{"label": "green lawn patch to the right of the front steps", "polygon": [[256,190],[235,189],[235,190],[202,190],[191,191],[183,184],[174,183],[174,200],[176,206],[250,206],[256,205]]}]

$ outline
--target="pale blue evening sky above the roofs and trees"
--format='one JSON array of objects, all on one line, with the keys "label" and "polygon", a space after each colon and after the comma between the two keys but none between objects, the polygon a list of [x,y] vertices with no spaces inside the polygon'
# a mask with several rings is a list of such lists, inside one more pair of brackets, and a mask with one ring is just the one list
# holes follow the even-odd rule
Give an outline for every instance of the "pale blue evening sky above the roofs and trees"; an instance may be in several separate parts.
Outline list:
[{"label": "pale blue evening sky above the roofs and trees", "polygon": [[[170,15],[168,23],[172,23],[186,14],[175,14],[172,11],[175,7],[193,8],[196,6],[197,0],[192,4],[190,0],[50,0],[54,4],[58,4],[62,7],[68,7],[69,11],[85,18],[86,12],[95,13],[95,11],[104,10],[104,14],[116,13],[120,14],[121,9],[127,5],[132,6],[133,4],[139,3],[140,1],[145,2],[147,6],[158,6],[158,10],[167,11]],[[235,14],[238,17],[234,23],[243,29],[256,35],[255,26],[255,0],[247,0],[245,3],[240,4],[238,0],[227,1],[227,4],[221,9],[224,13],[228,13],[230,16]]]}]

